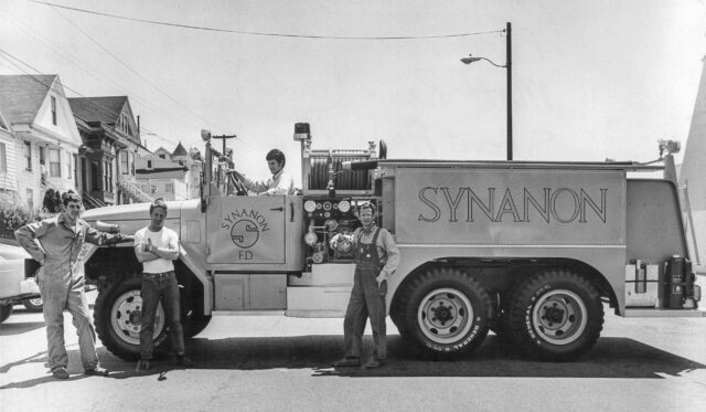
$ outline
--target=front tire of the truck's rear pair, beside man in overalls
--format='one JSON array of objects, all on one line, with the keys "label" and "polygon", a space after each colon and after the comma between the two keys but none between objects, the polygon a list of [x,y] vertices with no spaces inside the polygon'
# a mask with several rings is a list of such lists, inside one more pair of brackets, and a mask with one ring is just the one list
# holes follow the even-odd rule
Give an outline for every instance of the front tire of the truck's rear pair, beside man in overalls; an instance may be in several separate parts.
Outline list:
[{"label": "front tire of the truck's rear pair, beside man in overalls", "polygon": [[439,267],[413,279],[400,296],[403,337],[430,355],[470,353],[485,339],[492,320],[490,296],[467,273]]}]

